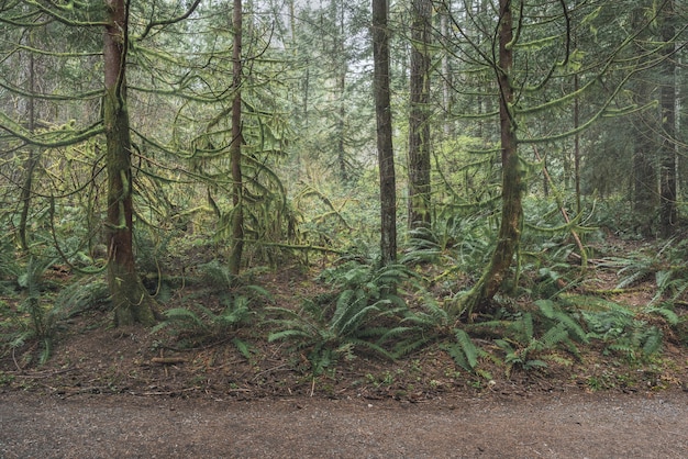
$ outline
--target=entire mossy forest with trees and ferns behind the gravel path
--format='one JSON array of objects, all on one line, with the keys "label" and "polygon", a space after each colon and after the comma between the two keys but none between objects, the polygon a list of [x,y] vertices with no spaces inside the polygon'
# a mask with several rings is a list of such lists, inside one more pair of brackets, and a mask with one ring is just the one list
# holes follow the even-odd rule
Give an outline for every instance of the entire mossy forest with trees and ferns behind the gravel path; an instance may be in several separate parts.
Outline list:
[{"label": "entire mossy forest with trees and ferns behind the gravel path", "polygon": [[0,27],[0,385],[688,384],[688,3],[2,0]]}]

